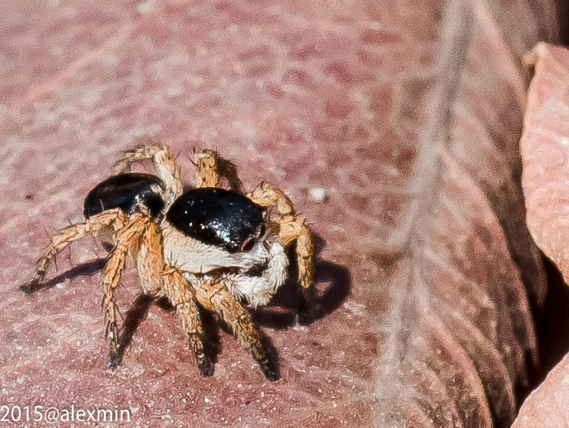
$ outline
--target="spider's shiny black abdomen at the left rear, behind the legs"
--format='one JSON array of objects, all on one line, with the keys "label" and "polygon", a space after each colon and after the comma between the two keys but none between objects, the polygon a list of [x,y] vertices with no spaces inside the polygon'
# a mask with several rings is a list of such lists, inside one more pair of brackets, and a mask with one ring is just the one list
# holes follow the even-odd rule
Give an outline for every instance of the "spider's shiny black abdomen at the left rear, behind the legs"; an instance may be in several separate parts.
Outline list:
[{"label": "spider's shiny black abdomen at the left rear, behind the legs", "polygon": [[164,207],[160,195],[164,188],[162,180],[156,175],[140,172],[126,172],[114,175],[97,184],[85,198],[86,218],[106,209],[120,208],[127,214],[139,210],[141,205],[156,216]]}]

